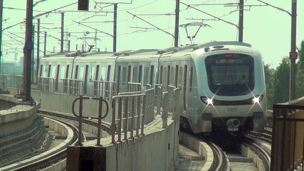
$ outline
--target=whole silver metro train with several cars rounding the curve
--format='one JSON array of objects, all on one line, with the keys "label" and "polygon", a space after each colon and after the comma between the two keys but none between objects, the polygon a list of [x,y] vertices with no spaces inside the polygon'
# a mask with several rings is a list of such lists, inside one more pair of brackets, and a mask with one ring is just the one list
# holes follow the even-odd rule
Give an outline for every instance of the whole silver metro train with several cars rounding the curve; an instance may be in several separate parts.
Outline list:
[{"label": "whole silver metro train with several cars rounding the curve", "polygon": [[[190,44],[166,49],[73,52],[40,59],[39,77],[54,79],[54,91],[67,92],[64,80],[80,80],[84,96],[97,96],[96,82],[115,82],[113,95],[128,82],[180,88],[181,127],[194,133],[247,134],[266,124],[266,89],[261,53],[242,42]],[[39,78],[38,78],[39,79]]]}]

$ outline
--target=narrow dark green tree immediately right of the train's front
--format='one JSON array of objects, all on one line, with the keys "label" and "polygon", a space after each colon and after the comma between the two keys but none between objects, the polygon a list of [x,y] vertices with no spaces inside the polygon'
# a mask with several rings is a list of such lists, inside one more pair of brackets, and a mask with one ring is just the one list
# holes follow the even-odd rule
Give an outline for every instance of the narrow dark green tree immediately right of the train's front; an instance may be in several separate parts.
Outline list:
[{"label": "narrow dark green tree immediately right of the train's front", "polygon": [[266,85],[266,93],[267,93],[267,109],[272,109],[273,102],[270,101],[272,99],[272,94],[273,94],[273,75],[275,72],[274,68],[270,68],[270,64],[264,65],[264,73],[265,73],[265,85]]}]

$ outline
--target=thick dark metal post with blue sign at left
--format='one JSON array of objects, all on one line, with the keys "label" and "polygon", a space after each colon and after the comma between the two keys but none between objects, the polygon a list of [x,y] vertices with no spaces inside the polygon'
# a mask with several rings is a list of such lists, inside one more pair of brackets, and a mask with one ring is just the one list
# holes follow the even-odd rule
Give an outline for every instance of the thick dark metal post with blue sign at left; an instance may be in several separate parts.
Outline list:
[{"label": "thick dark metal post with blue sign at left", "polygon": [[31,52],[33,49],[33,0],[26,1],[26,28],[23,64],[23,94],[25,101],[31,101]]}]

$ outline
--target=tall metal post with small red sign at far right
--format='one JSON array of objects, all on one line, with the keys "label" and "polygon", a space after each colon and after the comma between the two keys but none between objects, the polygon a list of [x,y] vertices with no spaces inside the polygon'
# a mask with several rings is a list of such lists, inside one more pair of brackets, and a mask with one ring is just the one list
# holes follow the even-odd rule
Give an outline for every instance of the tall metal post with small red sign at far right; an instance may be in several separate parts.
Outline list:
[{"label": "tall metal post with small red sign at far right", "polygon": [[[291,16],[291,53],[295,53],[296,49],[296,23],[297,23],[297,0],[292,0],[292,16]],[[297,59],[297,56],[295,58],[291,58],[292,55],[290,55],[290,81],[289,81],[289,101],[295,99],[295,72],[296,72],[296,66],[295,66],[295,60]]]}]

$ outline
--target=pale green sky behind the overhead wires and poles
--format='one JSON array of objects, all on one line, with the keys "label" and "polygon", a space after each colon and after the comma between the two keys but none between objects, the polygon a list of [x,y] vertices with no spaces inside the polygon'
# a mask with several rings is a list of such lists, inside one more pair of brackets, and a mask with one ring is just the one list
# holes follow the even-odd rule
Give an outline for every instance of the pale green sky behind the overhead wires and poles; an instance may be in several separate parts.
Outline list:
[{"label": "pale green sky behind the overhead wires and poles", "polygon": [[[244,5],[265,5],[257,0],[244,0]],[[292,0],[264,0],[271,5],[282,7],[291,13],[291,1]],[[36,1],[34,1],[35,3]],[[50,11],[57,9],[59,7],[77,2],[75,0],[49,0],[46,2],[40,2],[34,6],[34,16],[38,13],[43,13],[45,11]],[[127,2],[130,0],[96,0],[96,2]],[[225,4],[225,3],[237,3],[238,0],[181,0],[181,2],[186,4]],[[94,6],[96,5],[96,8]],[[23,21],[26,17],[26,11],[20,9],[26,9],[26,0],[3,0],[4,7],[12,7],[16,9],[3,9],[3,19],[7,19],[2,24],[2,29],[8,26],[14,25]],[[77,40],[77,37],[84,37],[83,32],[90,32],[87,37],[94,37],[96,28],[102,32],[113,34],[113,5],[108,7],[107,4],[96,4],[95,1],[90,0],[90,11],[94,12],[65,12],[64,19],[64,31],[71,33],[71,50],[76,49],[76,44],[78,44],[78,50],[80,50],[82,40]],[[192,5],[195,6],[195,5]],[[101,7],[103,12],[101,11]],[[224,5],[200,5],[195,6],[204,12],[207,12],[213,16],[220,17],[223,20],[232,22],[238,25],[238,15],[239,12],[232,12],[237,9],[236,6],[225,7]],[[122,50],[135,50],[135,49],[162,49],[166,47],[171,47],[173,44],[173,37],[161,30],[155,29],[136,29],[130,27],[143,27],[143,28],[155,28],[157,26],[171,34],[174,35],[174,15],[163,15],[166,13],[174,14],[175,0],[133,0],[132,4],[118,4],[118,14],[117,14],[117,51]],[[261,51],[266,64],[271,64],[271,67],[275,68],[281,62],[284,56],[289,55],[290,51],[290,40],[291,40],[291,16],[286,12],[281,12],[271,6],[245,6],[244,7],[244,36],[243,42],[249,43],[253,48]],[[297,46],[300,46],[300,42],[304,39],[304,2],[297,1]],[[64,11],[77,11],[77,4],[65,7]],[[191,22],[201,22],[201,19],[212,19],[213,17],[208,16],[202,12],[195,9],[187,9],[186,5],[180,4],[180,25],[191,23]],[[40,12],[38,12],[40,11]],[[139,16],[140,18],[150,22],[154,26],[149,25],[141,21],[140,19],[133,19],[133,16],[128,12]],[[230,12],[232,12],[230,14]],[[147,15],[147,14],[159,14],[159,15]],[[92,17],[95,15],[94,17]],[[40,28],[40,31],[47,31],[48,35],[57,37],[60,39],[60,23],[61,14],[60,13],[50,13],[48,16],[40,16],[41,26],[47,29]],[[83,19],[89,18],[83,21]],[[195,20],[189,20],[190,18]],[[84,25],[90,26],[92,28],[79,25],[76,22],[81,22]],[[110,21],[110,22],[106,22]],[[86,23],[90,22],[90,23]],[[33,20],[33,23],[37,23],[37,19]],[[52,23],[52,24],[51,24]],[[212,28],[206,27],[201,28],[194,39],[194,43],[205,43],[209,41],[235,41],[237,39],[237,27],[225,23],[223,21],[204,21],[203,23],[212,26]],[[195,34],[197,26],[187,27],[188,34]],[[142,30],[142,31],[141,31]],[[137,31],[136,33],[133,33]],[[180,44],[189,44],[190,41],[187,38],[185,28],[179,28]],[[10,33],[9,33],[10,32]],[[12,28],[6,29],[2,33],[3,40],[3,57],[5,61],[13,61],[15,48],[19,50],[17,58],[19,60],[20,56],[23,56],[21,49],[23,45],[20,42],[24,42],[25,25],[19,24]],[[13,35],[13,34],[16,35]],[[19,37],[18,37],[19,36]],[[15,41],[13,38],[18,41]],[[40,50],[43,51],[43,34],[40,34]],[[113,39],[111,36],[105,33],[97,33],[97,47],[101,51],[107,48],[107,51],[112,51]],[[36,40],[35,40],[36,42]],[[92,40],[88,40],[92,43]],[[173,44],[174,45],[174,44]],[[12,48],[12,49],[10,49]],[[20,48],[20,49],[19,49]],[[88,48],[88,46],[87,46]],[[47,51],[60,51],[60,43],[57,39],[47,37]],[[64,47],[67,49],[67,46]],[[6,50],[6,51],[5,51]],[[10,53],[6,54],[5,52]],[[42,56],[43,53],[40,53]],[[36,51],[35,51],[36,56]]]}]

